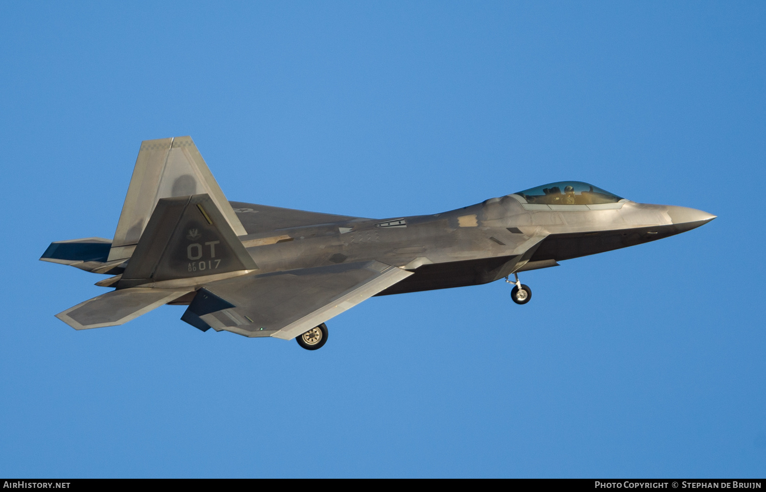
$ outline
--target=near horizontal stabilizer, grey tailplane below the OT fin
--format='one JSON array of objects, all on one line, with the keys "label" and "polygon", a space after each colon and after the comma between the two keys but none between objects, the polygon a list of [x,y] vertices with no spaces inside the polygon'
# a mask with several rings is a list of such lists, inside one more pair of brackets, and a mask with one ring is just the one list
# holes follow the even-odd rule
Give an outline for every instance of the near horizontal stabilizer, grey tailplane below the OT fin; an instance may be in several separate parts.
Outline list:
[{"label": "near horizontal stabilizer, grey tailplane below the OT fin", "polygon": [[116,326],[190,292],[160,288],[124,288],[106,292],[61,311],[56,318],[75,330]]}]

